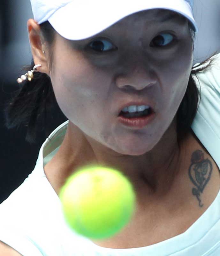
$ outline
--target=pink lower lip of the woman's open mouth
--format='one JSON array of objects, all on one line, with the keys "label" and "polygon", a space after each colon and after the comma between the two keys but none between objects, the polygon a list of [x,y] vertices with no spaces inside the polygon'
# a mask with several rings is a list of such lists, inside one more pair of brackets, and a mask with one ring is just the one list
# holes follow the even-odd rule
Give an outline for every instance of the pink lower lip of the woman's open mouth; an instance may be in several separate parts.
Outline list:
[{"label": "pink lower lip of the woman's open mouth", "polygon": [[118,121],[126,126],[143,129],[146,125],[152,122],[155,118],[155,113],[152,112],[149,116],[126,118],[123,116],[118,116]]}]

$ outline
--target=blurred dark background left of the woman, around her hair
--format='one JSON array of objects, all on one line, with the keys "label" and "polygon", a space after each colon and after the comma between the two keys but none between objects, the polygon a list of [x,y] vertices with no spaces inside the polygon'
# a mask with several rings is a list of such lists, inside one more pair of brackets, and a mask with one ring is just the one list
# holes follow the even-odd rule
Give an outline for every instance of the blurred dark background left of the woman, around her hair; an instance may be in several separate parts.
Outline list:
[{"label": "blurred dark background left of the woman, around her hair", "polygon": [[[29,0],[3,0],[0,4],[0,203],[17,188],[34,169],[39,149],[47,136],[38,123],[36,143],[25,141],[26,128],[7,130],[4,108],[11,99],[11,93],[18,90],[16,79],[20,77],[23,65],[31,63],[27,20],[33,18]],[[48,121],[48,130],[52,132],[67,118],[59,107],[54,106]]]}]

